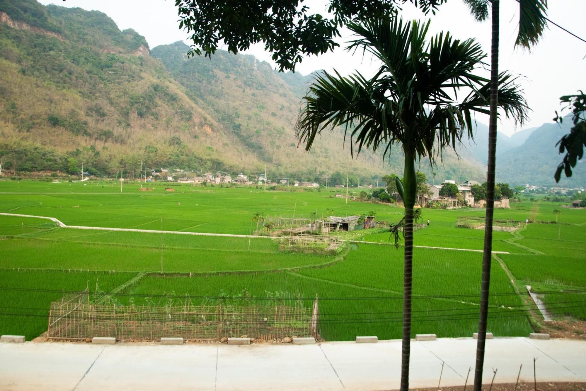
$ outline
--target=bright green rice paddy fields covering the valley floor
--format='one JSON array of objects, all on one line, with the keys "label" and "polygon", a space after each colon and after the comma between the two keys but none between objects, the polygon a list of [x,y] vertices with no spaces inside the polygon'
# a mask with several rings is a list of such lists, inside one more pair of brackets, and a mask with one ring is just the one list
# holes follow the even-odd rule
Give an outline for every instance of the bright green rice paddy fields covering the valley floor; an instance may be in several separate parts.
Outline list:
[{"label": "bright green rice paddy fields covering the valley floor", "polygon": [[[0,181],[0,212],[54,217],[67,225],[250,234],[252,216],[367,214],[396,222],[403,209],[335,198],[335,191],[267,191],[155,184],[139,191],[113,181]],[[561,210],[556,223],[554,209]],[[483,231],[457,228],[483,210],[423,210],[431,225],[415,245],[482,250]],[[586,319],[586,210],[559,203],[517,203],[495,218],[535,223],[495,232],[489,331],[527,335],[532,325],[516,286],[547,292],[556,318]],[[401,336],[403,251],[387,232],[352,233],[335,255],[280,252],[268,238],[209,237],[60,228],[40,218],[0,215],[0,334],[35,338],[47,328],[50,302],[63,292],[111,292],[119,305],[160,304],[201,296],[279,297],[311,306],[320,298],[319,331],[328,340]],[[162,258],[162,261],[161,261]],[[413,334],[470,336],[476,330],[482,253],[415,248]],[[162,273],[161,273],[162,268]],[[507,276],[512,276],[513,282]],[[134,278],[134,284],[126,282]],[[515,284],[515,285],[513,285]],[[117,289],[118,288],[118,289]],[[573,293],[560,291],[574,290]],[[98,296],[96,296],[98,297]],[[240,299],[242,300],[242,299]]]}]

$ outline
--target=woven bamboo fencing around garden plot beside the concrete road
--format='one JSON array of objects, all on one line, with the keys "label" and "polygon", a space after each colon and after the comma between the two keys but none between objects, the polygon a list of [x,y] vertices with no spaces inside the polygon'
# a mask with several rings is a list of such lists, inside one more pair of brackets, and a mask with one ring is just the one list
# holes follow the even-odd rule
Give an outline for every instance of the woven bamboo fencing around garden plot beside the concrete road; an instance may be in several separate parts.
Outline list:
[{"label": "woven bamboo fencing around garden plot beside the concrete road", "polygon": [[[314,305],[315,306],[315,305]],[[115,336],[125,341],[156,341],[161,337],[218,340],[240,337],[271,341],[285,336],[317,336],[316,309],[301,305],[148,306],[92,304],[88,294],[52,302],[47,336],[85,339]]]}]

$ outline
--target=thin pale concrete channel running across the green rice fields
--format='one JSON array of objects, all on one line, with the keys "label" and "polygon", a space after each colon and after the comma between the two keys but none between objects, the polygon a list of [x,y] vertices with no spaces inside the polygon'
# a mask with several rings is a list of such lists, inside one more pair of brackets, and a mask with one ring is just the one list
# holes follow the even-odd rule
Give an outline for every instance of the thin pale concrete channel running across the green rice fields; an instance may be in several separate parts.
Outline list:
[{"label": "thin pale concrete channel running across the green rice fields", "polygon": [[[32,214],[17,214],[17,213],[0,213],[3,216],[14,216],[14,217],[30,217],[30,218],[42,218],[45,220],[51,220],[57,223],[61,228],[72,228],[74,230],[97,230],[97,231],[125,231],[125,232],[145,232],[149,234],[175,234],[175,235],[195,235],[195,236],[221,236],[230,238],[261,238],[261,239],[280,239],[278,236],[261,236],[261,235],[239,235],[239,234],[214,234],[211,232],[185,232],[185,231],[162,231],[162,230],[137,230],[135,228],[113,228],[113,227],[88,227],[86,225],[67,225],[57,218],[47,216],[36,216]],[[347,241],[350,243],[367,243],[367,244],[380,244],[380,245],[392,245],[391,243],[384,242],[369,242],[362,240],[346,240],[340,239],[340,241]],[[454,250],[454,251],[472,251],[472,252],[483,252],[483,250],[472,250],[470,248],[453,248],[453,247],[431,247],[431,246],[418,246],[418,248],[432,248],[435,250]],[[510,254],[508,251],[492,251],[492,254]]]}]

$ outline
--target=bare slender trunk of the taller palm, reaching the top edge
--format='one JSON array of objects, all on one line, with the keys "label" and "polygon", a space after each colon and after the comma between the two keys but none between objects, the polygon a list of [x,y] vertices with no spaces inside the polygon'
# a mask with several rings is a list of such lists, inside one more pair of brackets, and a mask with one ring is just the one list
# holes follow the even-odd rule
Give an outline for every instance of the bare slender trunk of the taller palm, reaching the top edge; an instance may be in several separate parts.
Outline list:
[{"label": "bare slender trunk of the taller palm, reaching the top edge", "polygon": [[474,390],[482,390],[482,369],[486,345],[486,323],[490,288],[490,261],[492,259],[492,220],[495,211],[496,120],[499,88],[499,0],[492,0],[492,49],[490,58],[490,123],[488,129],[488,171],[486,173],[486,221],[484,251],[482,254],[482,284]]}]

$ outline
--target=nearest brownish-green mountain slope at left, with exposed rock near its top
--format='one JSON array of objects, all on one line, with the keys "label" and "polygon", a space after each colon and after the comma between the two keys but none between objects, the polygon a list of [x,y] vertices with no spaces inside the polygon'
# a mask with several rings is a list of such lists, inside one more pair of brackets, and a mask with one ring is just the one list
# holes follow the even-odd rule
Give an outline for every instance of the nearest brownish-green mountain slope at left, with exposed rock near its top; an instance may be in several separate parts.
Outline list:
[{"label": "nearest brownish-green mountain slope at left, with exposed rock near its top", "polygon": [[21,173],[73,173],[83,161],[97,173],[133,175],[141,159],[219,169],[246,153],[223,147],[230,134],[138,33],[101,12],[32,0],[0,2],[0,129],[4,168]]}]

